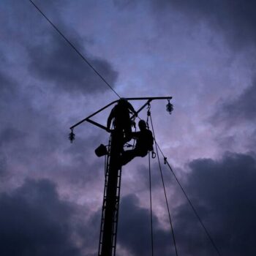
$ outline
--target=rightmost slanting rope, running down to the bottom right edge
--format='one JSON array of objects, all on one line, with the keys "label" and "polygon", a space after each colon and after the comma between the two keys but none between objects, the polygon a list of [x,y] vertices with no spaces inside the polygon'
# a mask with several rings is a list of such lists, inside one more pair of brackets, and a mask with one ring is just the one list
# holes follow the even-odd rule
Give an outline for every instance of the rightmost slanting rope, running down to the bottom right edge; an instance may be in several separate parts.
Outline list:
[{"label": "rightmost slanting rope, running down to the bottom right edge", "polygon": [[[155,142],[156,142],[156,141],[155,141]],[[221,254],[220,254],[220,252],[219,252],[219,249],[217,248],[216,244],[214,243],[214,240],[211,238],[210,233],[208,233],[208,230],[206,229],[206,226],[203,224],[203,221],[202,221],[202,219],[200,218],[199,214],[197,214],[197,211],[195,210],[195,207],[193,206],[191,200],[190,200],[189,197],[187,196],[187,193],[185,192],[184,188],[181,186],[181,183],[178,181],[178,178],[177,178],[176,174],[174,173],[173,168],[170,167],[170,164],[169,164],[169,162],[167,161],[167,157],[165,157],[165,155],[162,153],[162,150],[161,150],[161,148],[159,147],[159,145],[157,144],[157,142],[156,142],[156,146],[157,146],[157,148],[159,148],[159,151],[161,152],[162,157],[164,157],[164,159],[165,159],[165,164],[167,164],[167,166],[170,168],[171,173],[173,173],[174,178],[176,178],[176,181],[177,181],[179,187],[181,187],[181,190],[182,190],[182,192],[184,193],[185,197],[187,198],[187,200],[188,200],[188,202],[189,202],[189,205],[191,206],[192,210],[194,211],[195,216],[197,217],[198,221],[200,222],[200,225],[203,227],[203,230],[205,231],[206,236],[208,236],[208,239],[211,241],[211,244],[212,244],[212,246],[214,246],[214,249],[216,250],[217,254],[218,254],[219,256],[221,256]]]}]

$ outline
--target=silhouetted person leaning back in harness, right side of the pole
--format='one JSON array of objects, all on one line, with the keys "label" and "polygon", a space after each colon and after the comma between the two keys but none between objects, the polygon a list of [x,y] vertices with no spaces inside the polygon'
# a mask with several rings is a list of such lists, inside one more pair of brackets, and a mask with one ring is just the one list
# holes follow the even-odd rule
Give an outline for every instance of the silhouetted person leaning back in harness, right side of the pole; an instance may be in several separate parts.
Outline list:
[{"label": "silhouetted person leaning back in harness, right side of the pole", "polygon": [[153,151],[154,138],[147,129],[146,121],[139,121],[140,132],[132,132],[132,138],[137,140],[135,149],[124,151],[121,155],[121,165],[126,165],[135,157],[146,157],[148,151]]}]

